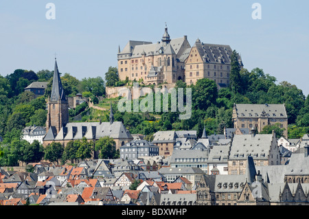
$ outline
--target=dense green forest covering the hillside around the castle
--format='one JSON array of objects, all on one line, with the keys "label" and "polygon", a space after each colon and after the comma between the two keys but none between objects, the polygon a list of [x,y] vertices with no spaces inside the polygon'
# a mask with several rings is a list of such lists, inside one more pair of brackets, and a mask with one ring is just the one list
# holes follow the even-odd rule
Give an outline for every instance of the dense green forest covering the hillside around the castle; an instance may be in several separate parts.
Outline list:
[{"label": "dense green forest covering the hillside around the castle", "polygon": [[[237,53],[233,51],[231,56],[231,74],[229,87],[217,90],[216,83],[207,78],[198,80],[196,84],[187,85],[183,81],[176,82],[176,89],[192,89],[192,116],[190,119],[179,119],[179,112],[147,111],[146,113],[121,113],[117,110],[119,98],[104,99],[105,87],[132,86],[133,82],[128,79],[119,80],[116,67],[109,67],[105,78],[83,78],[78,80],[73,73],[61,74],[62,86],[65,94],[73,97],[82,93],[84,97],[90,97],[93,104],[109,106],[112,102],[115,121],[122,121],[132,134],[146,135],[151,140],[152,134],[158,130],[197,130],[201,137],[203,127],[208,135],[223,132],[224,128],[233,128],[231,115],[233,104],[285,104],[288,113],[288,138],[300,138],[309,132],[309,96],[305,96],[301,89],[289,82],[277,82],[277,79],[269,73],[264,73],[260,68],[249,71],[240,69]],[[41,70],[35,73],[25,69],[16,69],[7,76],[0,76],[0,136],[3,138],[0,151],[6,151],[6,161],[12,160],[14,164],[19,160],[34,161],[34,155],[23,159],[16,157],[16,148],[28,148],[36,150],[38,157],[48,154],[37,143],[27,144],[20,140],[21,130],[25,126],[45,126],[46,122],[46,99],[50,95],[54,71]],[[45,95],[35,98],[31,92],[24,89],[32,82],[48,82]],[[144,86],[142,81],[139,81]],[[154,89],[154,86],[150,86]],[[99,98],[98,97],[103,97]],[[141,97],[143,101],[146,97]],[[185,100],[185,97],[184,97]],[[169,106],[170,107],[170,106]],[[88,107],[82,104],[76,109],[70,109],[70,117],[82,113]],[[91,108],[89,113],[82,116],[82,122],[109,121],[109,108],[106,111],[98,111]],[[283,130],[279,126],[266,127],[263,133],[275,130],[277,135],[282,135]],[[83,141],[78,145],[82,146]],[[54,146],[57,148],[57,146]],[[73,145],[72,145],[73,147]],[[32,149],[31,149],[32,148]],[[50,149],[50,148],[49,148]],[[76,149],[78,150],[78,149]],[[8,157],[8,153],[10,156]],[[41,153],[41,154],[40,154]],[[62,151],[62,154],[64,151]],[[51,154],[51,153],[50,153]],[[1,153],[0,153],[1,155]],[[19,154],[21,156],[21,154]],[[82,155],[80,155],[82,157]],[[104,154],[102,154],[104,157]],[[52,158],[50,158],[52,159]],[[70,159],[73,159],[70,157]],[[3,160],[3,159],[2,159]],[[3,163],[2,163],[3,164]],[[0,159],[1,165],[1,159]]]}]

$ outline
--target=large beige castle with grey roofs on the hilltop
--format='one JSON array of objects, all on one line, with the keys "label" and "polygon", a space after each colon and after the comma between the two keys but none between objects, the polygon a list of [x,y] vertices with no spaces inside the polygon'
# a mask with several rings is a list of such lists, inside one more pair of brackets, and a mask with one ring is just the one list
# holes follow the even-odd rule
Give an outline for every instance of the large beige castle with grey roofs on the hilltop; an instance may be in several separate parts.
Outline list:
[{"label": "large beige castle with grey roofs on the hilltop", "polygon": [[[183,80],[188,85],[201,78],[214,80],[218,89],[227,87],[231,72],[229,45],[205,44],[197,39],[193,47],[187,36],[170,38],[168,27],[161,41],[128,41],[124,49],[118,49],[120,80],[142,80],[144,84],[174,83]],[[238,56],[240,67],[242,59]]]}]

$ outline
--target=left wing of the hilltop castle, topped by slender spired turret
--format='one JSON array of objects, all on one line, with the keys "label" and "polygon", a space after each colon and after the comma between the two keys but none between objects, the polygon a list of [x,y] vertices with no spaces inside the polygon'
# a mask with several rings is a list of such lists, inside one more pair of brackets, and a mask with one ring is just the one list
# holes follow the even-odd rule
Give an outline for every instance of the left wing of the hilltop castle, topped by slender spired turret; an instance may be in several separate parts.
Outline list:
[{"label": "left wing of the hilltop castle, topped by slender spired turret", "polygon": [[119,78],[142,80],[147,85],[183,80],[190,47],[187,36],[171,39],[168,27],[158,43],[128,41],[122,51],[118,49]]}]

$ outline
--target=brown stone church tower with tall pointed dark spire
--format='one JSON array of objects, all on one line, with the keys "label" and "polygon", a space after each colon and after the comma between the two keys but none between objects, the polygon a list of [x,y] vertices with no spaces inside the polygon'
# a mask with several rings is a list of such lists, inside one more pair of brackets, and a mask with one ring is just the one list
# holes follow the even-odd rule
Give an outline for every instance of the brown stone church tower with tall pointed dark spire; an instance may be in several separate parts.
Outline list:
[{"label": "brown stone church tower with tall pointed dark spire", "polygon": [[52,93],[47,101],[47,110],[46,132],[53,127],[55,134],[58,134],[62,126],[69,122],[69,103],[62,87],[56,58]]}]

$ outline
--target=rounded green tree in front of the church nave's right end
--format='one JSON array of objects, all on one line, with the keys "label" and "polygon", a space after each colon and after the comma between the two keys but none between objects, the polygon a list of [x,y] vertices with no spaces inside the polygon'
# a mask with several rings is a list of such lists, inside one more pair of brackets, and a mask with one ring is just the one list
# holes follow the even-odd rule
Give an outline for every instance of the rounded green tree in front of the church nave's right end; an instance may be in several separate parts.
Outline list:
[{"label": "rounded green tree in front of the church nave's right end", "polygon": [[115,155],[115,144],[113,138],[109,136],[101,137],[95,142],[95,150],[100,151],[99,157],[101,159],[111,159]]}]

